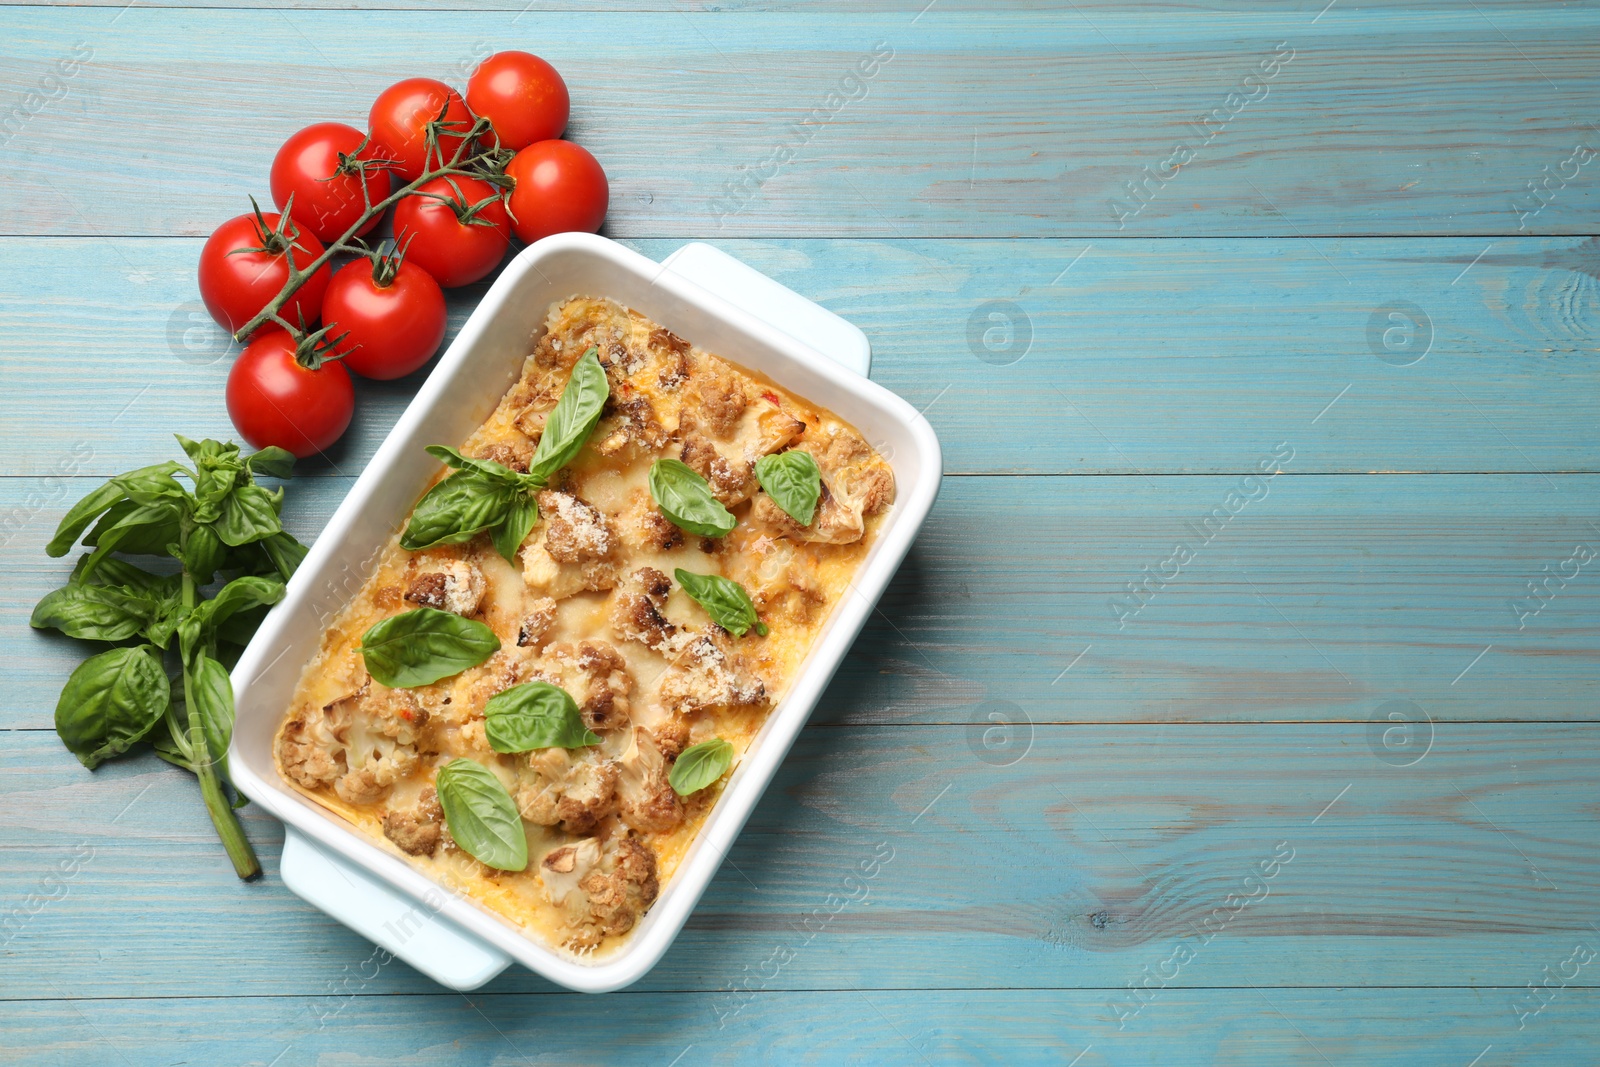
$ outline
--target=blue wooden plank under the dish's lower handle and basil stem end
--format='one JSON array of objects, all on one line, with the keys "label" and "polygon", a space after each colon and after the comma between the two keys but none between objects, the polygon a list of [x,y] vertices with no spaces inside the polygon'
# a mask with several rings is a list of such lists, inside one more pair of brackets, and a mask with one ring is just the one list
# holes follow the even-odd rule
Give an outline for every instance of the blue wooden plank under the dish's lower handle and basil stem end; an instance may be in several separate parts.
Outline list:
[{"label": "blue wooden plank under the dish's lower handle and basil stem end", "polygon": [[[1574,941],[1600,949],[1594,725],[1451,725],[1411,766],[1360,723],[1042,725],[1011,750],[974,734],[805,731],[640,989],[760,973],[768,990],[1098,989],[1104,1005],[1146,968],[1168,989],[1520,989]],[[219,952],[250,957],[230,993],[317,995],[371,952],[283,888],[280,830],[253,809],[267,877],[238,883],[194,782],[154,757],[91,776],[16,731],[0,771],[0,997],[203,997]],[[550,985],[514,968],[491,989]],[[368,992],[432,990],[397,965]]]}]

